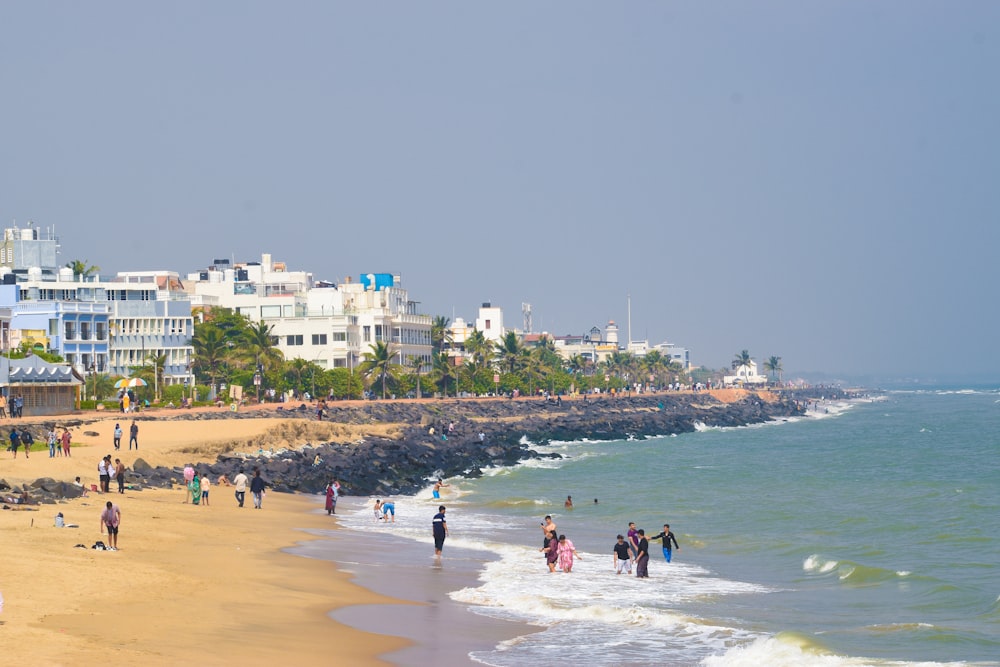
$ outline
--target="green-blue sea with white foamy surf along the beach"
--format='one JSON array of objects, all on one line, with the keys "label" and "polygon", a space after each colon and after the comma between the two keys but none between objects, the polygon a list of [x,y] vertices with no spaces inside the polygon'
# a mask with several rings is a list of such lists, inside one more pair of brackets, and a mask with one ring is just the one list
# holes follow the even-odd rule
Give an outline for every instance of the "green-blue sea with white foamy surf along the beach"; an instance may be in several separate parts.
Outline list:
[{"label": "green-blue sea with white foamy surf along the beach", "polygon": [[[374,521],[374,499],[346,503],[344,567],[376,541],[376,572],[462,573],[440,579],[449,604],[522,629],[471,645],[471,664],[1000,665],[1000,389],[889,390],[750,427],[533,448],[559,458],[446,480],[440,501],[429,479],[393,498],[392,524]],[[437,561],[439,503],[451,535]],[[539,552],[546,514],[580,553],[571,573]],[[680,543],[670,563],[651,543],[648,579],[612,567],[630,521],[650,536],[669,523]]]}]

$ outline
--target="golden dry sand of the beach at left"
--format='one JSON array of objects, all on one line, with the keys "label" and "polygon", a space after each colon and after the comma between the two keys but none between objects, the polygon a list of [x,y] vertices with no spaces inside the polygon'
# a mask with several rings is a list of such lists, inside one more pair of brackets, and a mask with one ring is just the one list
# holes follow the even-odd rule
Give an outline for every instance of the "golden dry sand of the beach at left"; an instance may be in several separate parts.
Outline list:
[{"label": "golden dry sand of the beach at left", "polygon": [[[79,419],[74,416],[72,419]],[[136,452],[114,452],[119,415],[73,429],[71,458],[48,456],[35,445],[30,459],[0,451],[0,478],[39,477],[97,483],[105,454],[130,466]],[[36,440],[44,434],[31,428]],[[18,422],[20,425],[22,422]],[[6,435],[10,420],[0,421]],[[214,460],[193,452],[225,443],[280,446],[275,429],[287,420],[140,421],[141,456],[151,465]],[[86,436],[84,432],[98,433]],[[385,664],[377,654],[406,640],[336,623],[334,608],[355,604],[410,604],[348,581],[334,565],[283,553],[311,539],[300,529],[331,528],[322,498],[269,493],[262,510],[236,506],[232,489],[212,486],[208,507],[185,504],[176,490],[114,492],[58,505],[0,511],[0,655],[25,665],[97,665],[111,660],[142,665]],[[249,494],[247,494],[249,496]],[[122,512],[117,552],[89,547],[98,540],[100,512],[111,500]],[[31,511],[35,510],[35,511]],[[78,528],[55,528],[62,512]],[[76,544],[86,549],[74,548]],[[126,663],[127,664],[127,663]]]}]

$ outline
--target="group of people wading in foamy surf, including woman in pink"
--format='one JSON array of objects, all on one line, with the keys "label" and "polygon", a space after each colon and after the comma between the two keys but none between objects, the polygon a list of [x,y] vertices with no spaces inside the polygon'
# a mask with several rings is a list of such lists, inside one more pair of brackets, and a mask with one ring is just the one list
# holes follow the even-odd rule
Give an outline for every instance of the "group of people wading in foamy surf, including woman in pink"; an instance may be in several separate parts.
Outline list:
[{"label": "group of people wading in foamy surf, including woman in pink", "polygon": [[[541,524],[543,543],[539,550],[545,554],[545,562],[549,572],[557,569],[563,572],[573,571],[573,561],[581,558],[573,545],[572,540],[566,535],[559,534],[556,523],[551,515],[546,515]],[[649,542],[650,540],[661,540],[663,547],[663,559],[671,562],[673,550],[680,550],[677,537],[671,532],[670,524],[663,524],[663,530],[653,537],[646,537],[646,531],[637,529],[635,522],[630,521],[626,535],[619,534],[615,544],[611,548],[612,564],[617,574],[632,574],[632,565],[635,565],[635,575],[640,579],[649,577]]]}]

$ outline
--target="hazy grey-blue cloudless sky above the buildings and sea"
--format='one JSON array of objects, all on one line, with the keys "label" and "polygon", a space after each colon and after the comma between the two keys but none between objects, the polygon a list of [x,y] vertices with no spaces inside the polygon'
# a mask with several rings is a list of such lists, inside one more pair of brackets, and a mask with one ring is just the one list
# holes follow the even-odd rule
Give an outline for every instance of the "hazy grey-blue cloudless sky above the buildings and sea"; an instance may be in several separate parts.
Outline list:
[{"label": "hazy grey-blue cloudless sky above the buildings and sea", "polygon": [[0,221],[785,377],[1000,381],[1000,3],[0,5]]}]

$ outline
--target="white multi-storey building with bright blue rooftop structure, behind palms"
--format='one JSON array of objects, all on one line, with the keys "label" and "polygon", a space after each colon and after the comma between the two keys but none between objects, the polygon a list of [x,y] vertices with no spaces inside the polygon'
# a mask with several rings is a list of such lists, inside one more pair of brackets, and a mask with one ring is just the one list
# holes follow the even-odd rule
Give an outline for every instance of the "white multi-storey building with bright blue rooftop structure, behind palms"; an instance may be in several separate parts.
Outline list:
[{"label": "white multi-storey building with bright blue rooftop structure, behind palms", "polygon": [[188,276],[193,303],[222,307],[272,327],[286,359],[304,359],[323,368],[353,368],[376,342],[389,343],[396,362],[412,358],[430,364],[431,318],[399,276],[364,274],[339,285],[314,283],[312,275],[289,272],[268,254],[261,262],[229,266],[225,260]]}]

